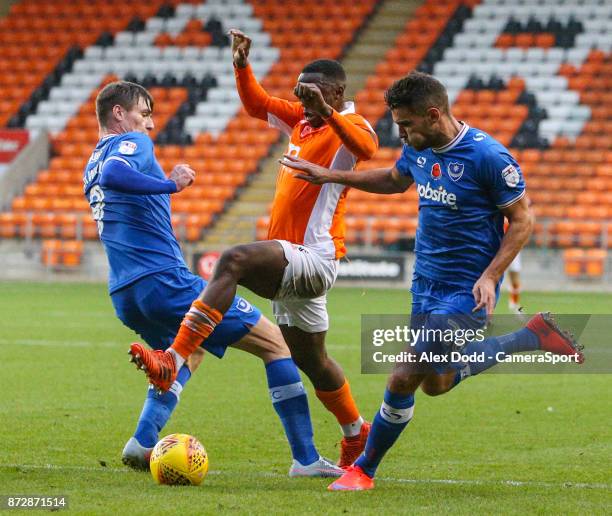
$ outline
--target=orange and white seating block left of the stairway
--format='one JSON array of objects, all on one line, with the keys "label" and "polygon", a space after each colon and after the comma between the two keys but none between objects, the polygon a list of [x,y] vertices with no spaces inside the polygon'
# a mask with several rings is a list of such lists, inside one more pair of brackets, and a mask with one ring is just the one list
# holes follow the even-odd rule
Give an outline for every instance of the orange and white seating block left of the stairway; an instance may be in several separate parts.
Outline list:
[{"label": "orange and white seating block left of the stairway", "polygon": [[[361,2],[346,16],[344,6],[348,4],[322,2],[317,9],[317,41],[333,56],[351,41],[374,6],[373,1]],[[62,22],[61,28],[73,37],[62,39],[65,43],[56,49],[57,59],[65,47],[76,46],[70,47],[54,69],[52,81],[45,82],[28,100],[21,99],[27,109],[20,109],[11,119],[10,126],[49,130],[55,156],[49,169],[41,171],[37,181],[14,199],[12,212],[0,216],[4,238],[97,238],[82,195],[81,174],[97,141],[93,110],[97,91],[122,77],[150,88],[156,99],[157,129],[152,137],[158,143],[162,167],[170,170],[175,163],[188,161],[196,170],[206,171],[196,186],[172,199],[178,236],[199,240],[202,230],[222,212],[278,139],[274,131],[261,131],[266,124],[252,120],[240,109],[227,29],[237,27],[253,38],[255,73],[265,77],[264,86],[276,95],[291,92],[301,66],[296,68],[295,60],[303,63],[319,52],[314,45],[304,46],[304,38],[310,34],[303,24],[304,10],[279,7],[271,1],[158,1],[147,9],[132,10],[130,6],[131,18],[117,16],[125,21],[107,24],[100,12],[118,14],[125,7],[119,2],[109,5],[103,11],[86,7],[84,2],[77,2],[75,9],[72,4],[66,6],[71,12],[65,19],[70,23]],[[58,9],[58,2],[17,4],[5,26],[26,31],[33,26],[22,23],[22,18],[57,15]],[[79,24],[70,16],[87,20],[84,26],[95,25],[96,31],[79,38]],[[41,72],[38,81],[43,78]],[[7,106],[5,111],[9,116],[11,108]]]}]

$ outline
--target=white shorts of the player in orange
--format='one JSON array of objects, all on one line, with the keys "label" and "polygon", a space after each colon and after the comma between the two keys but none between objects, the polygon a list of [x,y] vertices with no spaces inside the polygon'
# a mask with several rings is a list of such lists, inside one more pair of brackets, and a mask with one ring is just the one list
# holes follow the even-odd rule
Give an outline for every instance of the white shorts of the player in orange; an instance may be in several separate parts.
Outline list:
[{"label": "white shorts of the player in orange", "polygon": [[283,246],[287,267],[272,300],[276,323],[296,326],[308,333],[327,331],[327,291],[338,274],[338,262],[321,257],[304,245],[277,240]]}]

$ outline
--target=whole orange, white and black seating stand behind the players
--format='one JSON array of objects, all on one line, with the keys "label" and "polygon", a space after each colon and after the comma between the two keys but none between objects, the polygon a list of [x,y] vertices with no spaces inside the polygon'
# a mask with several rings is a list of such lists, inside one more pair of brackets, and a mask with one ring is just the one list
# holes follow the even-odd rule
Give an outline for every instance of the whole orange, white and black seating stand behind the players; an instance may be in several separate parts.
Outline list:
[{"label": "whole orange, white and black seating stand behind the players", "polygon": [[[152,136],[163,168],[187,161],[202,171],[196,186],[173,196],[177,235],[199,241],[279,140],[240,108],[227,29],[253,38],[256,75],[287,97],[322,48],[342,57],[377,3],[154,0],[130,3],[127,16],[119,1],[16,3],[0,20],[0,126],[48,130],[53,156],[0,213],[0,238],[97,238],[81,173],[97,140],[95,95],[121,77],[156,98]],[[538,219],[532,244],[566,249],[568,275],[601,276],[612,248],[612,11],[605,0],[515,3],[423,2],[355,97],[382,145],[365,166],[392,165],[399,154],[384,90],[411,69],[433,73],[448,87],[455,115],[517,157]],[[413,190],[388,197],[353,190],[348,213],[349,243],[410,249]],[[258,237],[266,225],[262,216]],[[67,255],[56,254],[48,263],[61,265]]]}]

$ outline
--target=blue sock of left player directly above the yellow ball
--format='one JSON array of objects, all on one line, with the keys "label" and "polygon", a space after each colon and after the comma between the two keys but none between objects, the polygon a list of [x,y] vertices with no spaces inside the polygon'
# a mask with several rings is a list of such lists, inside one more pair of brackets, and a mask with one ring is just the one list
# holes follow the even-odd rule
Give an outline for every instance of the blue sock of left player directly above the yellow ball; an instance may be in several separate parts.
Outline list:
[{"label": "blue sock of left player directly above the yellow ball", "polygon": [[172,411],[178,403],[179,396],[187,381],[191,378],[191,371],[186,365],[179,369],[176,380],[170,390],[158,394],[157,390],[150,385],[147,399],[142,407],[140,419],[134,437],[141,446],[152,448],[157,444],[159,432],[166,425],[172,415]]}]

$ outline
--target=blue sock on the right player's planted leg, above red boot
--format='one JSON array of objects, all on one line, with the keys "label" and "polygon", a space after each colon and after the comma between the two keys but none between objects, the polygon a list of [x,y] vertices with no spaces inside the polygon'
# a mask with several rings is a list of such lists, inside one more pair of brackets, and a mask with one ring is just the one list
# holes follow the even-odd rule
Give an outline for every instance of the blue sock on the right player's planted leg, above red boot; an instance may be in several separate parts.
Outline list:
[{"label": "blue sock on the right player's planted leg, above red boot", "polygon": [[385,390],[380,410],[374,416],[372,429],[363,454],[355,461],[369,477],[374,477],[376,468],[406,428],[414,412],[414,394],[394,394]]}]

